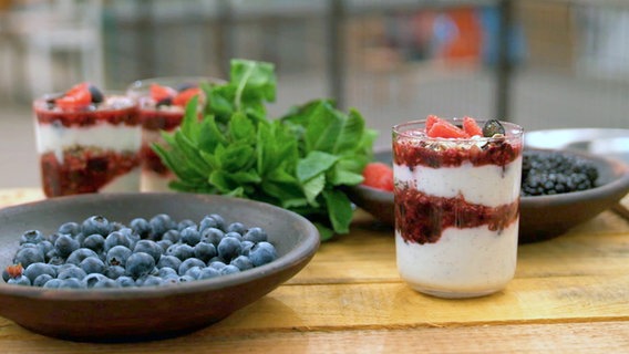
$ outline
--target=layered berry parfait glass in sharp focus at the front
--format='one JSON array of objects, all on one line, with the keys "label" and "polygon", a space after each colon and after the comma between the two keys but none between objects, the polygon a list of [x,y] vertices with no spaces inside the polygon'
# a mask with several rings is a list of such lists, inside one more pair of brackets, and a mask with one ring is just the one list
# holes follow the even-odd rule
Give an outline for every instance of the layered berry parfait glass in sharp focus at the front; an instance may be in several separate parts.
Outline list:
[{"label": "layered berry parfait glass in sharp focus at the front", "polygon": [[393,127],[398,269],[441,298],[497,292],[516,269],[523,129],[495,119]]}]

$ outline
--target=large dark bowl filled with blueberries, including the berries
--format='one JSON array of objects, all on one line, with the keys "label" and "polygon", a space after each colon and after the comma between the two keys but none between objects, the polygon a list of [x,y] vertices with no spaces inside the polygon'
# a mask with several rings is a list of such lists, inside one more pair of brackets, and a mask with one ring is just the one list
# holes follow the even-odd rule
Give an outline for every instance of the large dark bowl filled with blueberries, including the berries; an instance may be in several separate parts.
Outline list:
[{"label": "large dark bowl filled with blueberries, including the berries", "polygon": [[319,247],[291,211],[195,194],[90,194],[0,210],[0,315],[74,341],[172,337],[297,274]]}]

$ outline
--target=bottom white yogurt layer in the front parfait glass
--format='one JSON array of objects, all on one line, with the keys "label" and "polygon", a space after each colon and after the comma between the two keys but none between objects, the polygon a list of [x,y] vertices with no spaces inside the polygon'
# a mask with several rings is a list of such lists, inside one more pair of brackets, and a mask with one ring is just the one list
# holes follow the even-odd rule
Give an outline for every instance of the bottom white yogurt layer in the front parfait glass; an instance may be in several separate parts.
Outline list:
[{"label": "bottom white yogurt layer in the front parfait glass", "polygon": [[404,242],[395,232],[400,275],[415,290],[444,296],[482,295],[514,277],[517,220],[502,230],[447,228],[435,243]]}]

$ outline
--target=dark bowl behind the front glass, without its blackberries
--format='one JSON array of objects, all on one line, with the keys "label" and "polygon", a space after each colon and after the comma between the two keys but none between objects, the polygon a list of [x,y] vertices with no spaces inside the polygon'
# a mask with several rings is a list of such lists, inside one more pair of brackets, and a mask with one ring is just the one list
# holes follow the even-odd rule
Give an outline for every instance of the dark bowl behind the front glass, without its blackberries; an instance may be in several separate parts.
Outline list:
[{"label": "dark bowl behind the front glass, without its blackberries", "polygon": [[[595,164],[599,173],[598,186],[584,191],[520,198],[519,243],[560,236],[615,206],[629,192],[629,166],[623,162],[581,152],[563,150],[563,154]],[[378,152],[374,160],[391,164],[391,150]],[[378,220],[394,225],[393,192],[355,186],[348,189],[348,196]]]}]

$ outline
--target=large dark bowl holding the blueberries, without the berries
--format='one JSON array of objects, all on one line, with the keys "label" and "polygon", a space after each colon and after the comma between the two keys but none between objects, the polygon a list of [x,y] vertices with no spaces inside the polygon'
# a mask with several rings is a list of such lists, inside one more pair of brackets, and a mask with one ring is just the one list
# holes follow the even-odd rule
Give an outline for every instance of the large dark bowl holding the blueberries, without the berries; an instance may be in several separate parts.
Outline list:
[{"label": "large dark bowl holding the blueberries, without the berries", "polygon": [[43,289],[0,280],[0,315],[33,332],[75,341],[120,342],[171,337],[220,321],[299,272],[319,247],[307,219],[270,205],[193,194],[94,194],[59,197],[0,210],[0,266],[11,263],[20,235],[52,233],[92,215],[127,223],[168,214],[200,220],[219,214],[266,229],[278,258],[236,274],[173,285],[125,289]]}]

